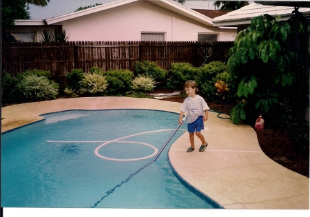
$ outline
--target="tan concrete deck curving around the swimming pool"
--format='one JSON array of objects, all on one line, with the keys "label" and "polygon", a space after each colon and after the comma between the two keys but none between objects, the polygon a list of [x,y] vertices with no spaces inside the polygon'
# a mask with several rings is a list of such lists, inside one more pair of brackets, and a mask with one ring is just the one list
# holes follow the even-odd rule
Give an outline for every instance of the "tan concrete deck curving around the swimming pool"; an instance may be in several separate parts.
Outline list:
[{"label": "tan concrete deck curving around the swimming pool", "polygon": [[[130,108],[179,113],[179,107],[169,101],[110,96],[24,103],[1,108],[1,132],[39,121],[40,114],[49,112]],[[197,137],[194,152],[186,152],[188,132],[169,149],[172,166],[189,185],[225,209],[309,209],[309,178],[268,158],[253,128],[209,112],[202,133],[208,142],[204,152],[198,152]]]}]

